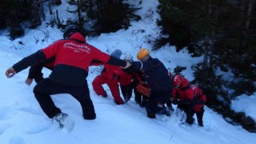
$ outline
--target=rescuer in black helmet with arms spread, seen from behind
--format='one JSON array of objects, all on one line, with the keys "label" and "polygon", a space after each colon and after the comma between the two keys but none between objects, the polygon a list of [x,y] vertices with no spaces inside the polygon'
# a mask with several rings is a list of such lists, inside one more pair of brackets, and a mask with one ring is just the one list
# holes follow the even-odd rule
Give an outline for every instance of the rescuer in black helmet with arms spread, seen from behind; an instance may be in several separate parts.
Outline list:
[{"label": "rescuer in black helmet with arms spread, seen from behind", "polygon": [[86,82],[90,62],[98,59],[115,66],[126,68],[129,62],[111,57],[94,46],[86,43],[82,31],[78,26],[66,26],[63,34],[64,40],[54,42],[42,50],[23,58],[6,70],[6,77],[11,78],[18,72],[25,70],[42,60],[55,57],[54,69],[49,78],[45,78],[34,86],[34,96],[48,118],[56,120],[60,127],[65,126],[68,114],[54,105],[50,95],[70,94],[80,102],[83,118],[95,119],[93,102]]}]

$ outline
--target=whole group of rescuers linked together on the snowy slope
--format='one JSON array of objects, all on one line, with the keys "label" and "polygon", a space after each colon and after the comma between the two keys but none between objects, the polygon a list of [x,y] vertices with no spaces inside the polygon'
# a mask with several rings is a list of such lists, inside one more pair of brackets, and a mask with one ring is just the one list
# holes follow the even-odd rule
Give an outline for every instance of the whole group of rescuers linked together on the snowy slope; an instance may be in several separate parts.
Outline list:
[{"label": "whole group of rescuers linked together on the snowy slope", "polygon": [[[94,104],[90,99],[90,90],[86,81],[89,66],[104,66],[101,74],[92,82],[96,94],[106,98],[108,94],[102,87],[106,84],[118,105],[130,101],[134,91],[134,101],[146,108],[148,118],[157,118],[156,114],[170,116],[174,112],[172,104],[178,105],[175,114],[185,117],[183,122],[194,124],[194,114],[198,126],[203,126],[202,117],[206,95],[198,86],[190,83],[182,74],[171,75],[166,66],[152,58],[146,48],[138,50],[134,61],[130,54],[121,58],[122,51],[114,50],[110,55],[86,43],[86,34],[78,26],[66,26],[63,38],[34,54],[30,54],[6,70],[6,77],[12,78],[18,72],[30,66],[26,84],[33,79],[34,96],[43,112],[59,122],[68,118],[50,97],[52,94],[70,94],[82,106],[83,118],[96,118]],[[43,78],[42,68],[52,70],[49,78]],[[123,98],[120,96],[119,84]],[[181,119],[182,120],[182,119]]]}]

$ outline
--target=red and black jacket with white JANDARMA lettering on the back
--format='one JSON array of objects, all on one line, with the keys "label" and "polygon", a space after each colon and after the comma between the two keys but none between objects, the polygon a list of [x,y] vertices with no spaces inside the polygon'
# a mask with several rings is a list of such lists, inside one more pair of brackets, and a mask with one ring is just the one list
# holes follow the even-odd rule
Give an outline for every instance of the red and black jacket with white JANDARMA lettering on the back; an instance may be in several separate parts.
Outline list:
[{"label": "red and black jacket with white JANDARMA lettering on the back", "polygon": [[101,62],[115,66],[126,66],[126,62],[103,53],[94,46],[86,43],[80,33],[74,33],[69,39],[59,40],[36,53],[23,58],[14,64],[13,68],[18,73],[35,63],[55,57],[54,70],[50,80],[70,86],[86,84],[90,62],[98,59]]}]

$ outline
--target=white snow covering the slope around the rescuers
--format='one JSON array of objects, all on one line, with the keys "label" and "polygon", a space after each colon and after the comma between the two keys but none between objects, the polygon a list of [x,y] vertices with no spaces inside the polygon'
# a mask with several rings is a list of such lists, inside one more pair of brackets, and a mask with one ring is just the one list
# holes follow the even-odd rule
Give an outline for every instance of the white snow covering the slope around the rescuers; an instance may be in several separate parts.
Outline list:
[{"label": "white snow covering the slope around the rescuers", "polygon": [[[160,30],[155,23],[156,18],[159,18],[156,13],[158,1],[142,0],[140,6],[142,10],[139,10],[138,14],[142,16],[142,20],[132,22],[128,30],[102,34],[98,38],[87,38],[87,42],[109,54],[115,49],[122,50],[123,53],[132,54],[134,60],[140,46],[151,50],[152,45],[149,42],[158,37]],[[58,9],[62,14],[60,18],[73,17],[72,14],[66,13],[66,7],[66,1],[62,1],[61,6],[54,6],[54,10]],[[41,30],[48,30],[50,37],[45,38]],[[40,41],[36,43],[35,38]],[[104,87],[109,97],[102,98],[94,93],[91,82],[98,75],[97,66],[90,67],[87,78],[97,118],[93,121],[84,120],[82,109],[74,98],[68,94],[56,94],[52,96],[55,105],[69,114],[75,123],[70,132],[61,130],[56,123],[46,117],[34,98],[35,83],[26,86],[28,69],[22,70],[10,79],[4,74],[15,62],[61,38],[60,30],[45,26],[28,30],[26,36],[14,41],[10,41],[4,32],[0,34],[0,61],[2,62],[0,66],[2,73],[0,74],[0,143],[253,144],[256,142],[256,134],[243,130],[241,126],[230,125],[221,115],[208,107],[205,108],[203,117],[204,126],[199,127],[197,122],[192,126],[182,125],[175,114],[171,117],[157,115],[157,119],[147,118],[146,110],[135,104],[134,97],[128,104],[117,106],[107,86]],[[202,61],[202,58],[191,58],[186,50],[177,53],[173,46],[163,46],[161,50],[152,51],[151,56],[159,58],[170,71],[173,71],[175,66],[185,66],[186,70],[182,74],[189,80],[193,79],[190,66]],[[46,77],[50,74],[50,70],[43,69],[43,73]],[[232,102],[233,109],[244,111],[255,119],[255,96],[256,93],[250,97],[246,95],[238,97]],[[175,106],[174,109],[176,109]]]}]

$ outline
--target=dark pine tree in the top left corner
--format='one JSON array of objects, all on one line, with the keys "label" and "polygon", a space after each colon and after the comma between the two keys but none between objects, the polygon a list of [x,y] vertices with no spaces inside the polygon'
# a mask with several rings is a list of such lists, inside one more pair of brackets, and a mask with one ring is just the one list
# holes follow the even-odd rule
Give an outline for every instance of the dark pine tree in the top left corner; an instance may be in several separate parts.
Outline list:
[{"label": "dark pine tree in the top left corner", "polygon": [[38,0],[2,0],[0,10],[0,27],[10,27],[11,39],[24,34],[22,22],[29,22],[30,28],[41,25]]}]

